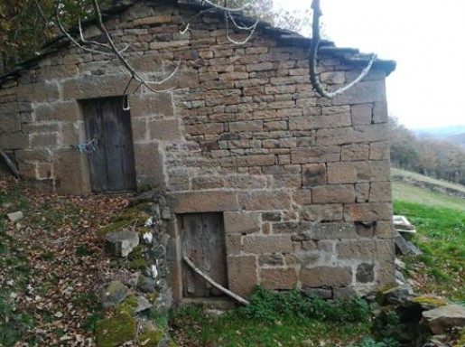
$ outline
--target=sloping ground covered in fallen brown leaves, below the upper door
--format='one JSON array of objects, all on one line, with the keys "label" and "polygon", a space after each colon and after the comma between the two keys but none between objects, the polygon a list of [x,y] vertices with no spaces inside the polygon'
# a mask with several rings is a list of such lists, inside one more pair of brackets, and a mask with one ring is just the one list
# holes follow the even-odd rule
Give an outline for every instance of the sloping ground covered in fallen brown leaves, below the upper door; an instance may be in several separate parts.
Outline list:
[{"label": "sloping ground covered in fallen brown leaves, below the upper door", "polygon": [[[98,229],[126,206],[0,177],[0,347],[94,345],[95,289],[110,271]],[[23,219],[7,220],[14,211]]]}]

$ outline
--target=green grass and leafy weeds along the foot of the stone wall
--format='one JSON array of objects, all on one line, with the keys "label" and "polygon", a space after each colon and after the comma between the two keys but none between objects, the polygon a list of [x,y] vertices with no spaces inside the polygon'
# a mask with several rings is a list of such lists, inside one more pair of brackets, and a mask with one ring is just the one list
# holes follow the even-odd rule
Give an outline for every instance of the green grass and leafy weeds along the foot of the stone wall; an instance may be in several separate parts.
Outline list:
[{"label": "green grass and leafy weeds along the foot of the stone wall", "polygon": [[370,334],[370,308],[357,297],[325,301],[298,289],[258,286],[249,301],[219,316],[200,306],[182,308],[171,321],[176,340],[189,346],[336,346]]}]

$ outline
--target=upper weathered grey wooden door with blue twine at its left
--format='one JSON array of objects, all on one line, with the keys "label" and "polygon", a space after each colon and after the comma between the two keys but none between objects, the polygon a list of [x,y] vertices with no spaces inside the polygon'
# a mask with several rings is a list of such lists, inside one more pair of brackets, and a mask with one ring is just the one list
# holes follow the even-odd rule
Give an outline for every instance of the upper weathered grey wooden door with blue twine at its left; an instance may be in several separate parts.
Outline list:
[{"label": "upper weathered grey wooden door with blue twine at its left", "polygon": [[88,151],[93,192],[127,192],[136,188],[131,117],[122,98],[82,102],[86,133],[94,139]]}]

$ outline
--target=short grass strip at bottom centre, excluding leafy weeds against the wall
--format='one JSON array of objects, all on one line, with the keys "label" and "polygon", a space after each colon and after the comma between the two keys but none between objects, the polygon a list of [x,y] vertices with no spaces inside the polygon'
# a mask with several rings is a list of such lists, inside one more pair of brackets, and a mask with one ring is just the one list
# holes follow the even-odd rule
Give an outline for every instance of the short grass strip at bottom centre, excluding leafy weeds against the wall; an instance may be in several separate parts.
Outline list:
[{"label": "short grass strip at bottom centre, excluding leafy weeds against the wall", "polygon": [[370,334],[367,322],[341,324],[291,316],[270,322],[237,311],[212,317],[199,307],[182,309],[171,323],[176,340],[191,347],[320,346],[321,342],[330,347],[356,343]]}]

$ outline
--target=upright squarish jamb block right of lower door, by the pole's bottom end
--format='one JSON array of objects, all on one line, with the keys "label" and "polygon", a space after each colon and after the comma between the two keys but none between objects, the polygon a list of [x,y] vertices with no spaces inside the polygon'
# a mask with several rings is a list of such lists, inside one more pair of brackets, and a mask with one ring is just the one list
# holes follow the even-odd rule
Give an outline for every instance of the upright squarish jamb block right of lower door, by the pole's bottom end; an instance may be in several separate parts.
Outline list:
[{"label": "upright squarish jamb block right of lower door, by the pole's bottom end", "polygon": [[256,256],[228,256],[228,284],[237,295],[252,294],[258,284]]}]

